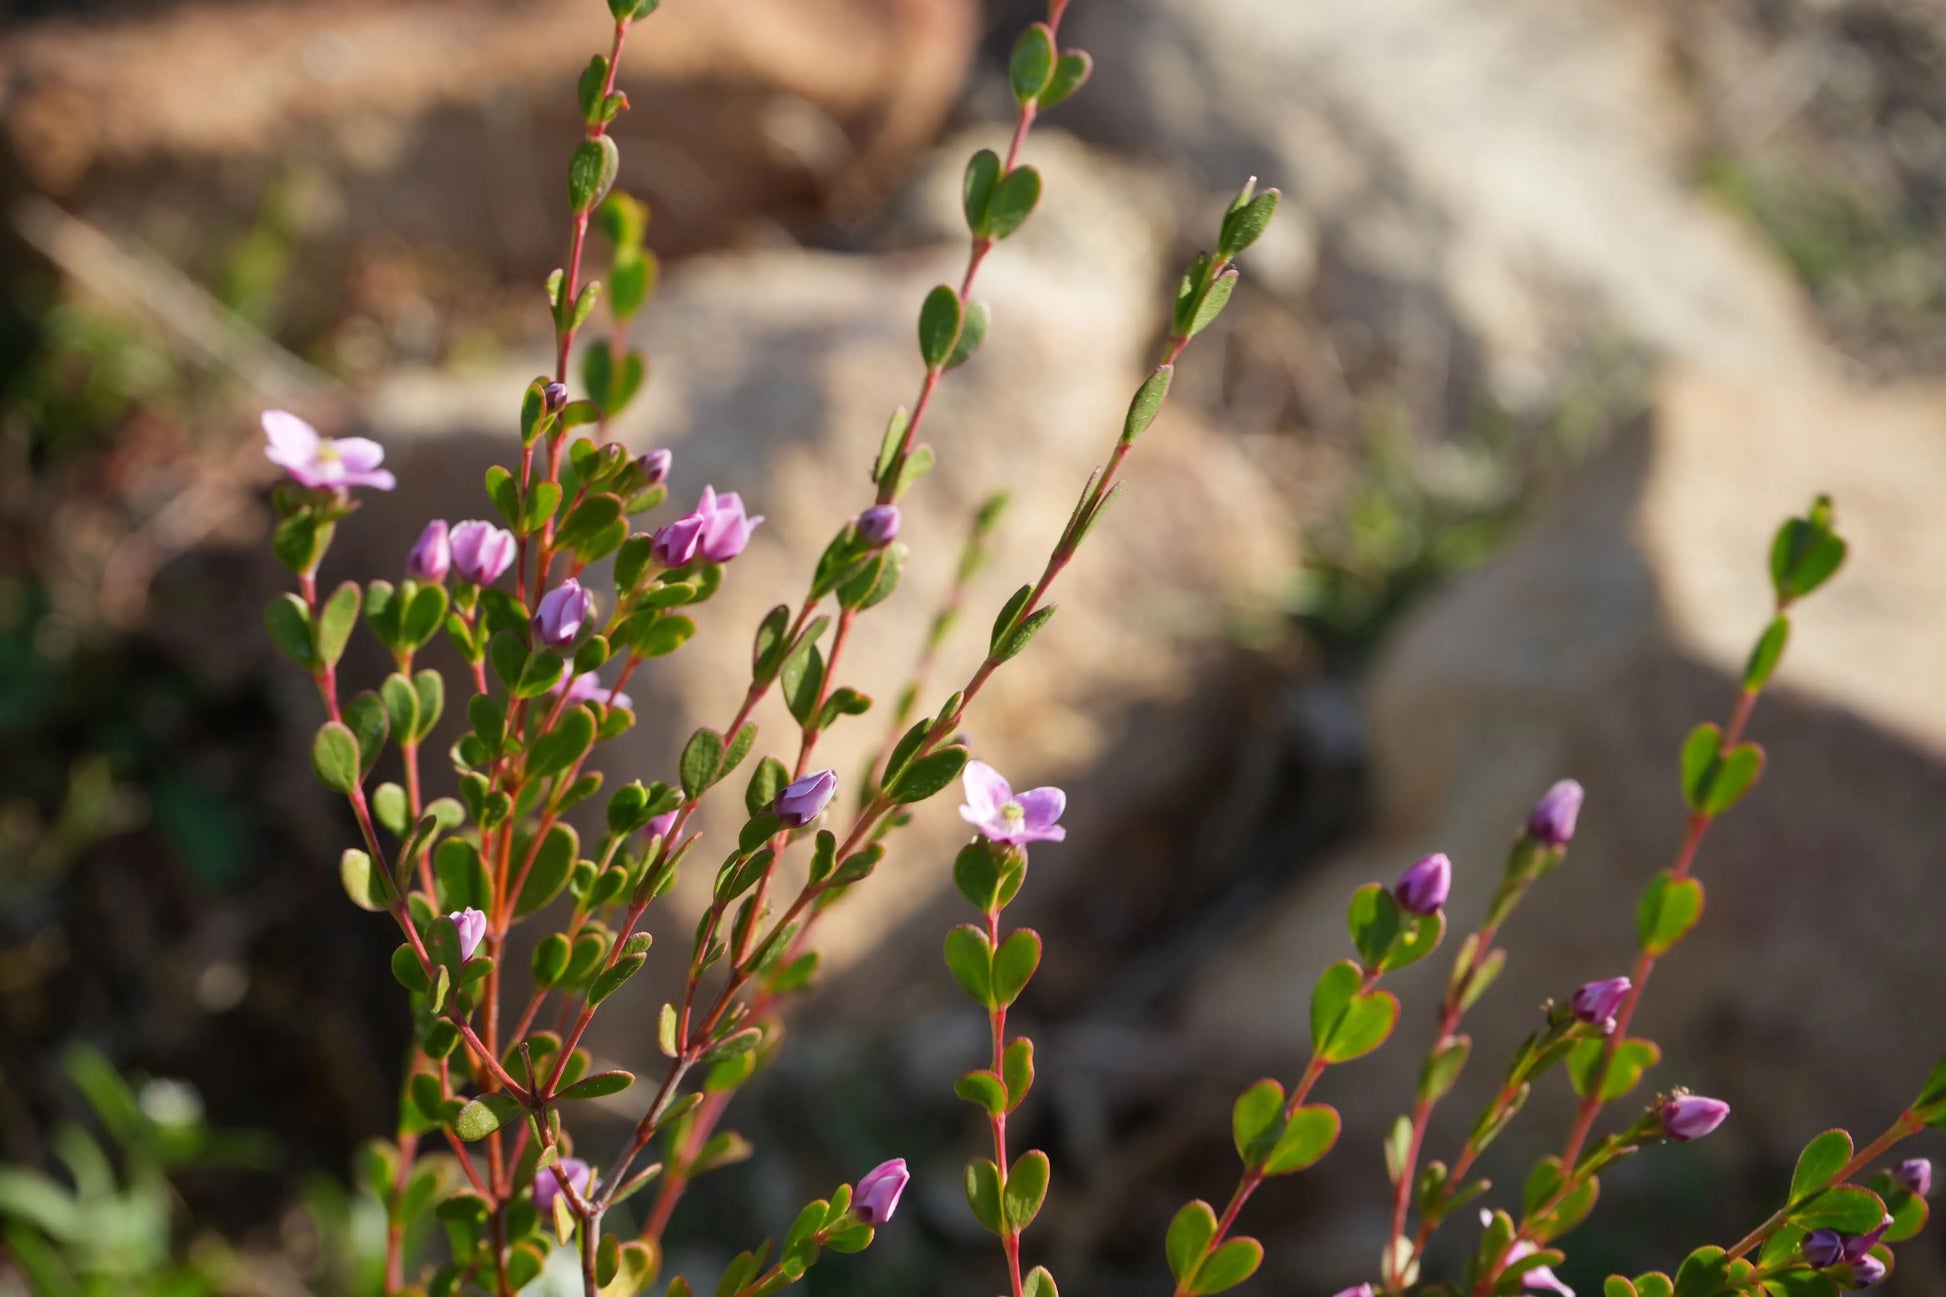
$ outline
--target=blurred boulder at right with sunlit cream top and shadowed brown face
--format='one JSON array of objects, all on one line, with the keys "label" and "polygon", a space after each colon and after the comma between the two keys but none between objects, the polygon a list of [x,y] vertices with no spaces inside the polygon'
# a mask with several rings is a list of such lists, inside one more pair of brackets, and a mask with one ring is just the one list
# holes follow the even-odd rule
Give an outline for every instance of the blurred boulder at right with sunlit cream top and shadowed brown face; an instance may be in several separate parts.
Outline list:
[{"label": "blurred boulder at right with sunlit cream top and shadowed brown face", "polygon": [[[1674,1159],[1687,1172],[1650,1153],[1619,1176],[1623,1194],[1652,1198],[1670,1176],[1716,1167],[1701,1174],[1716,1176],[1720,1196],[1664,1241],[1670,1248],[1748,1225],[1744,1196],[1722,1184],[1730,1167],[1771,1192],[1788,1176],[1777,1159],[1820,1130],[1837,1124],[1860,1139],[1884,1130],[1942,1046],[1936,1005],[1917,991],[1932,983],[1946,923],[1936,886],[1946,693],[1932,625],[1946,571],[1932,500],[1946,473],[1940,397],[1672,372],[1648,426],[1586,465],[1545,526],[1393,639],[1370,682],[1374,832],[1238,933],[1197,980],[1181,1013],[1193,1050],[1226,1059],[1220,1071],[1238,1079],[1290,1071],[1312,982],[1349,950],[1349,892],[1448,851],[1454,931],[1467,931],[1528,806],[1572,775],[1588,806],[1568,863],[1504,933],[1506,976],[1467,1020],[1473,1065],[1434,1128],[1434,1155],[1446,1157],[1532,1028],[1532,1009],[1629,968],[1635,900],[1683,834],[1677,748],[1689,726],[1722,721],[1734,703],[1769,615],[1771,530],[1829,491],[1851,559],[1794,615],[1784,666],[1749,726],[1769,754],[1765,775],[1705,841],[1709,913],[1637,1017],[1664,1063],[1607,1124],[1652,1087],[1732,1102],[1720,1135]],[[1860,444],[1872,454],[1856,454]],[[1368,1207],[1384,1196],[1366,1153],[1409,1106],[1450,962],[1452,943],[1397,978],[1407,1015],[1395,1044],[1319,1089],[1349,1126],[1333,1198],[1347,1186]],[[1520,1155],[1557,1145],[1568,1110],[1567,1083],[1547,1077],[1489,1174],[1510,1180]],[[1343,1231],[1356,1264],[1376,1254],[1384,1221],[1366,1211]]]}]

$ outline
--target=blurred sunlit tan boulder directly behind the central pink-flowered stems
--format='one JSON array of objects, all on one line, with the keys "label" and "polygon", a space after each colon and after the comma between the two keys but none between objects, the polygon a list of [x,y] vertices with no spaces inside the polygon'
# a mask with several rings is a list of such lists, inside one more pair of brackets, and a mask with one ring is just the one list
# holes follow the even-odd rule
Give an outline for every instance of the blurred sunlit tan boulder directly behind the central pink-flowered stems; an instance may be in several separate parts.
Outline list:
[{"label": "blurred sunlit tan boulder directly behind the central pink-flowered stems", "polygon": [[[942,150],[920,185],[930,195],[920,208],[950,210],[971,148]],[[911,672],[975,504],[996,489],[1012,495],[994,561],[973,586],[963,633],[942,654],[926,707],[971,674],[992,613],[1039,574],[1152,364],[1166,275],[1160,218],[1142,201],[1144,187],[1057,134],[1037,138],[1035,162],[1051,197],[981,271],[975,294],[991,304],[992,333],[946,380],[926,419],[922,440],[938,448],[940,467],[909,497],[905,580],[893,602],[858,623],[837,674],[880,699],[874,715],[839,726],[817,750],[817,765],[835,767],[847,787],[885,736],[883,709]],[[919,226],[934,228],[924,218]],[[603,761],[611,779],[667,777],[697,724],[722,726],[736,711],[757,621],[773,604],[802,598],[811,557],[870,502],[868,463],[885,417],[917,395],[917,306],[934,282],[957,278],[963,255],[955,240],[891,263],[771,251],[695,259],[671,273],[644,317],[654,378],[619,436],[636,450],[673,448],[677,506],[714,483],[739,491],[767,522],[699,611],[695,645],[631,682],[642,724]],[[1185,360],[1208,362],[1197,351]],[[405,489],[372,500],[366,526],[348,528],[346,541],[362,532],[362,549],[397,563],[428,510],[479,512],[479,471],[508,454],[520,386],[537,364],[488,382],[401,378],[381,391],[372,434],[393,448]],[[1061,613],[969,715],[975,750],[1020,787],[1072,783],[1113,748],[1113,783],[1096,779],[1068,816],[1072,859],[1086,859],[1107,826],[1140,816],[1236,740],[1234,724],[1185,732],[1142,719],[1234,711],[1232,693],[1249,678],[1230,670],[1238,654],[1224,631],[1271,604],[1292,543],[1292,518],[1247,456],[1191,417],[1166,415],[1133,456],[1127,481],[1129,499],[1055,588]],[[765,703],[759,723],[759,754],[788,763],[796,728],[782,705]],[[741,820],[745,773],[704,808],[712,841]],[[922,950],[936,972],[942,927],[899,925],[950,890],[948,863],[963,830],[955,793],[928,804],[870,886],[831,911],[819,945],[833,978],[866,950],[874,962]],[[841,798],[852,804],[848,791]],[[691,874],[693,900],[706,871]],[[685,921],[666,917],[658,929],[681,941]],[[936,982],[934,991],[948,989]],[[654,1001],[648,991],[638,999],[640,1017],[603,1015],[597,1046],[646,1063]],[[874,1017],[885,1003],[874,997]]]}]

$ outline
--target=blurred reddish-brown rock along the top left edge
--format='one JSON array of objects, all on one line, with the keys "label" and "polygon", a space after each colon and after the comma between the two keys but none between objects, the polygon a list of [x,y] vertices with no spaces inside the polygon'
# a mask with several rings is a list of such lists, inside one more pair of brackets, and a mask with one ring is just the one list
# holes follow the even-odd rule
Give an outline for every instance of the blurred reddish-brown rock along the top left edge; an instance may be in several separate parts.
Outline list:
[{"label": "blurred reddish-brown rock along the top left edge", "polygon": [[[664,255],[856,212],[932,140],[975,25],[973,0],[664,6],[625,49],[619,183],[654,203]],[[253,220],[292,224],[306,273],[280,323],[302,335],[342,278],[385,273],[401,247],[461,280],[448,263],[500,282],[559,265],[574,84],[609,31],[595,0],[49,19],[0,43],[0,152],[27,187],[179,265],[222,263]]]}]

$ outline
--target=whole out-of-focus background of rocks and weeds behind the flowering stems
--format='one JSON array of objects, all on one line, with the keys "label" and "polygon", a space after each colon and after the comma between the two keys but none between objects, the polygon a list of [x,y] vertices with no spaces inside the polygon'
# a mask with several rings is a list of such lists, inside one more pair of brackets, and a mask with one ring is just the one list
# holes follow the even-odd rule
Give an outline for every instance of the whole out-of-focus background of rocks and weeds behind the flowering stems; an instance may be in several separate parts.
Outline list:
[{"label": "whole out-of-focus background of rocks and weeds behind the flowering stems", "polygon": [[[675,448],[677,499],[710,481],[771,520],[691,652],[638,678],[611,777],[666,775],[720,723],[749,627],[866,502],[913,312],[963,259],[959,171],[1004,140],[1006,51],[1041,14],[669,0],[631,39],[619,187],[664,282],[621,434]],[[1444,849],[1477,919],[1574,775],[1582,834],[1506,933],[1434,1124],[1450,1157],[1535,1007],[1625,968],[1681,835],[1679,740],[1728,711],[1767,617],[1771,528],[1831,491],[1851,565],[1798,617],[1751,728],[1767,777],[1639,1020],[1652,1081],[1736,1118],[1607,1176],[1565,1276],[1742,1235],[1804,1139],[1880,1130],[1946,1044],[1946,8],[1074,0],[1063,37],[1096,76],[1026,148],[1047,195],[983,273],[994,329],[934,411],[915,563],[852,684],[895,695],[1006,489],[932,695],[963,678],[1181,263],[1245,177],[1286,204],[1063,615],[971,717],[1016,787],[1072,798],[1018,906],[1049,950],[1016,1015],[1041,1048],[1018,1141],[1055,1159],[1029,1252],[1070,1297],[1168,1291],[1166,1221],[1228,1194],[1238,1089],[1302,1067],[1351,888]],[[306,769],[315,697],[261,631],[282,574],[255,421],[374,436],[401,475],[331,580],[483,512],[549,362],[574,78],[605,39],[595,0],[0,2],[0,1293],[29,1291],[29,1252],[90,1293],[378,1291],[352,1170],[393,1130],[409,1024],[387,925],[335,878],[352,826]],[[905,1155],[895,1227],[808,1291],[1002,1283],[959,1194],[983,1133],[952,1079],[985,1024],[938,958],[955,837],[940,798],[835,915],[732,1112],[755,1155],[683,1202],[669,1270],[708,1281]],[[1253,1200],[1251,1291],[1376,1268],[1378,1131],[1448,960],[1403,980],[1391,1048],[1327,1077],[1333,1161]],[[648,1069],[660,995],[629,999],[594,1046]],[[1504,1186],[1561,1139],[1567,1085],[1543,1091],[1487,1159]],[[631,1120],[617,1100],[584,1139]],[[1469,1241],[1446,1233],[1434,1270]],[[1946,1293],[1936,1235],[1892,1289]]]}]

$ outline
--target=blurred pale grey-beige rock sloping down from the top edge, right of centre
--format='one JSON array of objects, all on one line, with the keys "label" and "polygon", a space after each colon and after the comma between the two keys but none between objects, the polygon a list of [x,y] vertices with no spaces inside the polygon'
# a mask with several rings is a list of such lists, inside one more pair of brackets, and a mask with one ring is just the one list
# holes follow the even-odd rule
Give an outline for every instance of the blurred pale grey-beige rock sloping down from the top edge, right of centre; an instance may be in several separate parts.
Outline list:
[{"label": "blurred pale grey-beige rock sloping down from the top edge, right of centre", "polygon": [[1821,351],[1767,249],[1691,193],[1693,125],[1640,6],[1129,0],[1076,6],[1070,31],[1098,66],[1078,129],[1214,189],[1286,189],[1347,366],[1360,321],[1426,314],[1452,319],[1446,382],[1483,372],[1516,403],[1607,329],[1744,372]]}]

